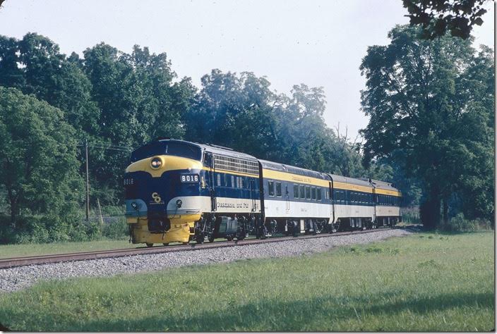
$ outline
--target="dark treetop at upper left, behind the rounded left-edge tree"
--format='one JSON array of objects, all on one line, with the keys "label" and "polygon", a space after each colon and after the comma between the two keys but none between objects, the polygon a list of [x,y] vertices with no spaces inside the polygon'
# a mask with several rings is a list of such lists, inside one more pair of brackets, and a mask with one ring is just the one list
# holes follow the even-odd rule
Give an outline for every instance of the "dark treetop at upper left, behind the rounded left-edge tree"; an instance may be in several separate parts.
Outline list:
[{"label": "dark treetop at upper left, behind the rounded left-edge tree", "polygon": [[0,85],[35,94],[64,111],[80,139],[98,132],[100,111],[91,100],[90,81],[47,37],[28,33],[18,40],[0,35]]}]

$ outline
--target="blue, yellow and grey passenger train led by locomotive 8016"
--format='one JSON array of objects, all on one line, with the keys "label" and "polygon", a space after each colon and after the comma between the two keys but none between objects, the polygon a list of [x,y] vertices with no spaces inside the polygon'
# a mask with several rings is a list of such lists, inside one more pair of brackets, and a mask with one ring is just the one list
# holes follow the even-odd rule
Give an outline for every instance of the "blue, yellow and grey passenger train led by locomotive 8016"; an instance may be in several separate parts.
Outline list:
[{"label": "blue, yellow and grey passenger train led by locomotive 8016", "polygon": [[402,194],[390,183],[183,140],[134,150],[124,187],[131,242],[148,247],[364,230],[401,219]]}]

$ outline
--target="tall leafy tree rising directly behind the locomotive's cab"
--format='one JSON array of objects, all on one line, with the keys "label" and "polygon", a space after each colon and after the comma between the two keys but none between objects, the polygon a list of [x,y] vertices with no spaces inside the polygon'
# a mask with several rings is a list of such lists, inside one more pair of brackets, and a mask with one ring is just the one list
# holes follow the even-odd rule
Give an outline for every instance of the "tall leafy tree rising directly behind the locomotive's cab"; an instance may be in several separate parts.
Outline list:
[{"label": "tall leafy tree rising directly behind the locomotive's cab", "polygon": [[[183,137],[183,118],[195,90],[188,78],[173,82],[176,73],[166,54],[150,54],[148,48],[137,45],[132,54],[125,54],[104,43],[83,54],[92,99],[101,110],[98,140],[104,145],[131,148],[157,137]],[[104,202],[116,204],[115,199],[122,198],[120,175],[129,152],[94,150],[92,159],[93,182],[105,190],[99,195]]]}]

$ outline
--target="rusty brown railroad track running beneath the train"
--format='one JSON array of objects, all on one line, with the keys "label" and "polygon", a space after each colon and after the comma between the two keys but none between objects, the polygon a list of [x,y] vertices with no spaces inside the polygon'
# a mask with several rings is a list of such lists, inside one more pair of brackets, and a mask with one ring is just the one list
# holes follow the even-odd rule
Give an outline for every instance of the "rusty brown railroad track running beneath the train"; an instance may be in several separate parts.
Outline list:
[{"label": "rusty brown railroad track running beneath the train", "polygon": [[[409,229],[409,226],[405,228]],[[68,254],[13,257],[10,259],[0,259],[0,269],[20,267],[20,266],[30,266],[36,264],[50,264],[56,262],[108,259],[112,257],[133,256],[133,255],[142,255],[142,254],[160,254],[160,253],[172,253],[172,252],[185,252],[197,249],[212,249],[212,248],[244,246],[244,245],[258,245],[268,242],[305,240],[305,239],[313,239],[318,237],[339,237],[341,235],[375,233],[375,232],[380,232],[382,230],[391,230],[391,229],[393,228],[378,228],[375,230],[362,230],[354,232],[337,232],[333,234],[323,233],[318,235],[300,235],[299,237],[273,237],[267,239],[219,241],[219,242],[212,242],[205,244],[160,246],[160,247],[150,247],[150,248],[125,248],[125,249],[111,249],[111,250],[94,251],[94,252],[76,252]]]}]

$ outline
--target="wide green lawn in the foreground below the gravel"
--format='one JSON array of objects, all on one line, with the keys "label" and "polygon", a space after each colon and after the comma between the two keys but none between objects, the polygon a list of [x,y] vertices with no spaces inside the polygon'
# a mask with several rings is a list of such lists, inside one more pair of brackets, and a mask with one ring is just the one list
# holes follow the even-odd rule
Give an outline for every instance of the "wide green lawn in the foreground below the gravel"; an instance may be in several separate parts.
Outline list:
[{"label": "wide green lawn in the foreground below the gravel", "polygon": [[73,278],[0,294],[22,331],[493,330],[493,233]]}]

